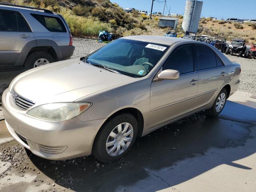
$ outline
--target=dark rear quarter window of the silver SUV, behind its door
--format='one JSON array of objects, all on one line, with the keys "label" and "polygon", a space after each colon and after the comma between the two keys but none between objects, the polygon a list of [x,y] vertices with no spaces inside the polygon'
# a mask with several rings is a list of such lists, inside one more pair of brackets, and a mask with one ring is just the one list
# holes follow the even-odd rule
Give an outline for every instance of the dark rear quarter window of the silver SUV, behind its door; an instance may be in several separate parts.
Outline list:
[{"label": "dark rear quarter window of the silver SUV, behind its door", "polygon": [[58,17],[31,14],[50,32],[67,32],[63,22]]}]

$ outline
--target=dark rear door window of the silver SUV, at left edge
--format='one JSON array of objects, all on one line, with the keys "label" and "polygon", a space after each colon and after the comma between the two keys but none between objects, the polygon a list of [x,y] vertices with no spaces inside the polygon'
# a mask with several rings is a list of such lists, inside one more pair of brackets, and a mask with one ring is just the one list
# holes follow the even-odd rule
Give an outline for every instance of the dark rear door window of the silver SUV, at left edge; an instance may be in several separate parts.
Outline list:
[{"label": "dark rear door window of the silver SUV, at left edge", "polygon": [[30,32],[30,28],[19,13],[0,10],[0,31]]}]

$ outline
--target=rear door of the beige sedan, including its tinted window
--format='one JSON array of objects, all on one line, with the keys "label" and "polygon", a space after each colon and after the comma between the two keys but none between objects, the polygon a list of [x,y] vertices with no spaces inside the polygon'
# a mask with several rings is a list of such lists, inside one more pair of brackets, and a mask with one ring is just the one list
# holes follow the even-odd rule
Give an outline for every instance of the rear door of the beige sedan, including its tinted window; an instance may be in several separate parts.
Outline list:
[{"label": "rear door of the beige sedan, including its tinted window", "polygon": [[226,80],[227,69],[218,55],[208,46],[194,46],[199,74],[197,107],[210,103]]}]

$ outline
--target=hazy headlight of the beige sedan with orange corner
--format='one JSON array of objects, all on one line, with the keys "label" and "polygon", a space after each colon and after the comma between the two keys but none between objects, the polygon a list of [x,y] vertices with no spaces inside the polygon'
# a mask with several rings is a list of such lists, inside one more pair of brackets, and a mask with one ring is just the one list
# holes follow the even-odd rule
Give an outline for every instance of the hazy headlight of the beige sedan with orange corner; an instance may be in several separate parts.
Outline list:
[{"label": "hazy headlight of the beige sedan with orange corner", "polygon": [[49,121],[64,121],[80,115],[91,105],[92,103],[50,103],[32,108],[27,114]]}]

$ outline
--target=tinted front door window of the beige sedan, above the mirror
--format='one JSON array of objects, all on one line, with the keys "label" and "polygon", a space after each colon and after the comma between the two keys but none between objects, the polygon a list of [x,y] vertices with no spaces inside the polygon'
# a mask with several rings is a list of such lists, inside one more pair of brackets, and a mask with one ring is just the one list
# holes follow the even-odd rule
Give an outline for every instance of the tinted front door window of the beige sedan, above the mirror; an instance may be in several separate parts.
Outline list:
[{"label": "tinted front door window of the beige sedan, above the mirror", "polygon": [[163,66],[163,70],[173,69],[180,74],[194,71],[194,56],[191,45],[182,46],[174,51]]}]

